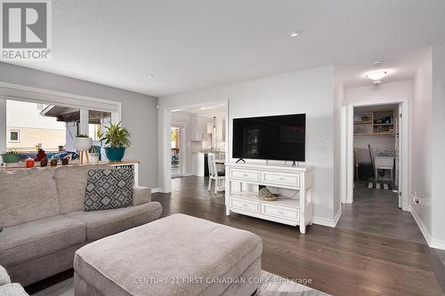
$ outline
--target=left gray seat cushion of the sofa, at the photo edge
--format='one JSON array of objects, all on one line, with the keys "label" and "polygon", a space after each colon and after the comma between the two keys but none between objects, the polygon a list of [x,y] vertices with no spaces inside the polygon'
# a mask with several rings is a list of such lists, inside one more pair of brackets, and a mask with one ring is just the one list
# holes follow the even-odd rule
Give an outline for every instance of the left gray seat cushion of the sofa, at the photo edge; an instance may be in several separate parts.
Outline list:
[{"label": "left gray seat cushion of the sofa, at the photo edge", "polygon": [[0,262],[7,268],[85,242],[85,223],[61,215],[4,228]]}]

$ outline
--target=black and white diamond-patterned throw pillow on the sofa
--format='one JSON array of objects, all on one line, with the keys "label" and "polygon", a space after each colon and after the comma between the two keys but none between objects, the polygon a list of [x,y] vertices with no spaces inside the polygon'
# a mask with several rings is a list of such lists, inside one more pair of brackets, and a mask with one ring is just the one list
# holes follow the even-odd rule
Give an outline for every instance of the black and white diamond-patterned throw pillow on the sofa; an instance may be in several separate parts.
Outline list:
[{"label": "black and white diamond-patterned throw pillow on the sofa", "polygon": [[84,211],[124,208],[133,204],[133,168],[93,169],[86,173]]}]

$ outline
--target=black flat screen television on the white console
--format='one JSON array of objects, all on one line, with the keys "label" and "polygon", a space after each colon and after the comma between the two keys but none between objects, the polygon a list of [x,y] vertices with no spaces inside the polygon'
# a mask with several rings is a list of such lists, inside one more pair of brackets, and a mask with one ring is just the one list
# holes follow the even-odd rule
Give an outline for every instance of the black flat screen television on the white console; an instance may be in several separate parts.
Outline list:
[{"label": "black flat screen television on the white console", "polygon": [[304,161],[306,115],[233,119],[233,158]]}]

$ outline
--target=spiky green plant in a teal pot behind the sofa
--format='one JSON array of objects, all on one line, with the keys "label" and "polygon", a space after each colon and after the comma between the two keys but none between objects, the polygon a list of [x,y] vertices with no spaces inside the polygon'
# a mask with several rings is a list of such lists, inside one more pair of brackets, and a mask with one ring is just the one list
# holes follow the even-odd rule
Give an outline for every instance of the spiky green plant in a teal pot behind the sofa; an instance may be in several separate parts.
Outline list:
[{"label": "spiky green plant in a teal pot behind the sofa", "polygon": [[101,134],[101,140],[105,141],[105,154],[110,161],[120,162],[125,155],[125,148],[129,147],[130,132],[118,124],[109,124],[107,131]]}]

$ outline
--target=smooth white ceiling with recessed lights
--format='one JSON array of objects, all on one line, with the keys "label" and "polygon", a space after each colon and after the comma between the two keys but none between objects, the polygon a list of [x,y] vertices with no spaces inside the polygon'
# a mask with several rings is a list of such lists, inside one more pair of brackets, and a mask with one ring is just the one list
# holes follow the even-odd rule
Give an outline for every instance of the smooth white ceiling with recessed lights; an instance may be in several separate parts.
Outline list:
[{"label": "smooth white ceiling with recessed lights", "polygon": [[53,61],[21,65],[156,96],[327,64],[358,86],[375,60],[411,78],[444,28],[443,0],[57,0]]}]

